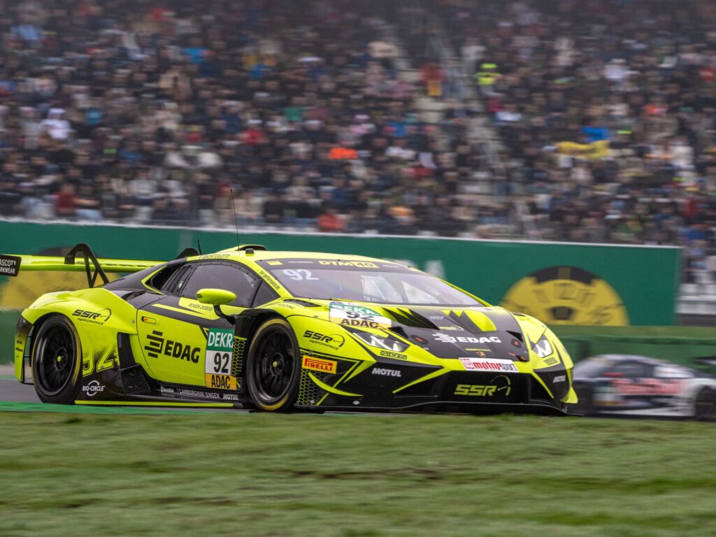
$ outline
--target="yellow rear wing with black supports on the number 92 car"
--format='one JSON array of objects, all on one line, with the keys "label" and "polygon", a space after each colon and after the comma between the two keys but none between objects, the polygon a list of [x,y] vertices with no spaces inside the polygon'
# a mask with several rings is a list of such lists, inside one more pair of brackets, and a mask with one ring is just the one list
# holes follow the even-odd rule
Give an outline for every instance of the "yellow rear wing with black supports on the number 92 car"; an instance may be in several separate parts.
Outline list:
[{"label": "yellow rear wing with black supports on the number 92 car", "polygon": [[[80,262],[77,263],[79,256]],[[82,262],[84,261],[84,262]],[[97,277],[107,284],[107,272],[139,272],[151,269],[163,261],[142,261],[137,259],[97,259],[92,248],[79,243],[67,256],[10,256],[0,254],[0,276],[17,276],[26,271],[64,271],[87,274],[87,285],[94,287]]]}]

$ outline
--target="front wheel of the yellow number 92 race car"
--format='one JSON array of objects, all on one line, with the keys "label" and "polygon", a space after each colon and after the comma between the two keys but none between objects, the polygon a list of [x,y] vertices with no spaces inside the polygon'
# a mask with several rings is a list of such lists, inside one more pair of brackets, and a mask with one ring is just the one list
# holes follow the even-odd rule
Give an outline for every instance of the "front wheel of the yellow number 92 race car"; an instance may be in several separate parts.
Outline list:
[{"label": "front wheel of the yellow number 92 race car", "polygon": [[301,354],[291,325],[269,319],[256,330],[246,359],[246,388],[264,412],[291,412],[299,393]]}]

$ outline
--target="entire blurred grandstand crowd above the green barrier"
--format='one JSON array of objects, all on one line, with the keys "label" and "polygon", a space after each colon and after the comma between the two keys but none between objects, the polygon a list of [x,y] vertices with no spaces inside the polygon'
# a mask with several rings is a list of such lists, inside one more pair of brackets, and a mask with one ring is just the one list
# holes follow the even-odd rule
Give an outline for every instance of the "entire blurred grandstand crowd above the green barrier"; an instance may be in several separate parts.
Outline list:
[{"label": "entire blurred grandstand crowd above the green barrier", "polygon": [[716,245],[712,0],[0,0],[0,35],[2,216],[226,226],[233,189],[248,226]]}]

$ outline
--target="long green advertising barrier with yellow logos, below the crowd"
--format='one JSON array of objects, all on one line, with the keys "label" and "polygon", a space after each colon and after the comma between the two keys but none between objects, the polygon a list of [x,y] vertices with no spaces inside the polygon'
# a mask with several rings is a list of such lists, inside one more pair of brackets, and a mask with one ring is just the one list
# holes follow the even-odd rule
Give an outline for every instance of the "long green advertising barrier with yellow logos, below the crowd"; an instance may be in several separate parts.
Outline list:
[{"label": "long green advertising barrier with yellow logos, below the crowd", "polygon": [[[16,221],[0,221],[0,236],[0,253],[60,255],[85,242],[98,257],[158,261],[196,247],[197,240],[204,253],[237,242],[275,251],[357,253],[407,261],[548,324],[659,326],[676,320],[680,250],[670,247],[241,230],[237,239],[233,231]],[[82,279],[82,274],[66,273],[0,278],[0,308],[24,308],[40,294],[80,286]]]}]

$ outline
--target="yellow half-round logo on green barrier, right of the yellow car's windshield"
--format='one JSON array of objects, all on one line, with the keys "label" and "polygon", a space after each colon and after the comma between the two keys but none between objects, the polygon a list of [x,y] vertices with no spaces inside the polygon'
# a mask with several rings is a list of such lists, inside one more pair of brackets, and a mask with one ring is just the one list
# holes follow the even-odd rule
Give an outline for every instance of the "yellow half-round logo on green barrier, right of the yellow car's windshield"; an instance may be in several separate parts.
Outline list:
[{"label": "yellow half-round logo on green barrier, right of the yellow car's windshield", "polygon": [[627,326],[627,308],[606,281],[576,266],[551,266],[525,276],[500,306],[547,324]]}]

